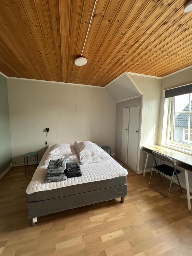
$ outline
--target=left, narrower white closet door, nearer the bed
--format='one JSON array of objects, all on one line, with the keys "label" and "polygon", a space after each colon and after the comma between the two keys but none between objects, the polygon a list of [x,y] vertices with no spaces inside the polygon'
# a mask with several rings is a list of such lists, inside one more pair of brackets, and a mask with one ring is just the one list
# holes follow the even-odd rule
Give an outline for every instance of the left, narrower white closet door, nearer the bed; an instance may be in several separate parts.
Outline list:
[{"label": "left, narrower white closet door, nearer the bed", "polygon": [[123,109],[121,159],[125,163],[127,163],[128,132],[129,132],[129,108],[124,108]]}]

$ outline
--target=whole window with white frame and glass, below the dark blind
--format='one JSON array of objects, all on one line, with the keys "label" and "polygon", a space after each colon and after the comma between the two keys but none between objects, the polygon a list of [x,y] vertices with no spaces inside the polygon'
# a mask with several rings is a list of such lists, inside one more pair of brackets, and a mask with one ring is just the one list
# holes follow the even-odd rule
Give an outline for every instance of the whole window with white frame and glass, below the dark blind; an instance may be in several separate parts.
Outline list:
[{"label": "whole window with white frame and glass, below the dark blind", "polygon": [[192,93],[167,98],[166,144],[192,149]]}]

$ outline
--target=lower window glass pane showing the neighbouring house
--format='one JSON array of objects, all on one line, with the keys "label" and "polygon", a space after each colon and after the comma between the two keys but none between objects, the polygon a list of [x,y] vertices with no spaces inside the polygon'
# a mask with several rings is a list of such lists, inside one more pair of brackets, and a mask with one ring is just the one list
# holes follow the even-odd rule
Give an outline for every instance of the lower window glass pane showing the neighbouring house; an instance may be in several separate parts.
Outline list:
[{"label": "lower window glass pane showing the neighbouring house", "polygon": [[188,118],[189,114],[174,115],[174,139],[178,143],[187,144],[188,140]]}]

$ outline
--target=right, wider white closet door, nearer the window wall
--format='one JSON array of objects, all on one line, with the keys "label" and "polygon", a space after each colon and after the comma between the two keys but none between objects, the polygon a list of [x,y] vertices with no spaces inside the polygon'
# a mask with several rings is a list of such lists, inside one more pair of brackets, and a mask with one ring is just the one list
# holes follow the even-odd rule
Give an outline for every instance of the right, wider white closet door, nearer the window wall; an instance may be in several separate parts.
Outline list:
[{"label": "right, wider white closet door, nearer the window wall", "polygon": [[127,164],[134,170],[137,169],[139,112],[140,107],[130,108]]}]

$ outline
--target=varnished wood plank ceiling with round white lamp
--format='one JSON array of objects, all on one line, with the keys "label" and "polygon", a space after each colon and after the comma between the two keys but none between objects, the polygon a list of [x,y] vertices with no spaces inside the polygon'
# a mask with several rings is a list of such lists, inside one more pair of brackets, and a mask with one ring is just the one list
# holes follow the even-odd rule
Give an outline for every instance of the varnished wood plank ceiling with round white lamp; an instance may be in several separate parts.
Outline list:
[{"label": "varnished wood plank ceiling with round white lamp", "polygon": [[2,0],[0,71],[105,86],[125,71],[164,76],[192,65],[192,12],[183,0]]}]

